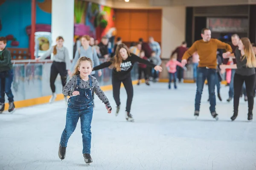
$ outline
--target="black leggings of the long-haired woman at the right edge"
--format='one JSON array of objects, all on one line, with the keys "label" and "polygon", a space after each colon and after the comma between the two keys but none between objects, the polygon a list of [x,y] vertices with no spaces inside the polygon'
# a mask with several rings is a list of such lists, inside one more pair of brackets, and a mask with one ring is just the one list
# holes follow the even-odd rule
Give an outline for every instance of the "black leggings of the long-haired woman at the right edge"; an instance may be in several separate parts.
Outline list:
[{"label": "black leggings of the long-haired woman at the right edge", "polygon": [[236,74],[234,76],[234,111],[238,111],[239,98],[241,94],[242,86],[245,82],[246,94],[248,97],[248,111],[253,110],[253,91],[255,83],[255,74],[250,76],[241,76]]}]

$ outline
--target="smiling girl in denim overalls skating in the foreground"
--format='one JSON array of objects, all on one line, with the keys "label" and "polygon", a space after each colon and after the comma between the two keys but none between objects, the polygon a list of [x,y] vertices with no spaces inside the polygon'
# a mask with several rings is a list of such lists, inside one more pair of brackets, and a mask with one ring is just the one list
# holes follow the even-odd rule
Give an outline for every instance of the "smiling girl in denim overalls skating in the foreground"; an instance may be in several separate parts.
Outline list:
[{"label": "smiling girl in denim overalls skating in the foreground", "polygon": [[90,58],[79,58],[74,68],[72,78],[63,87],[62,93],[66,96],[70,96],[70,99],[67,103],[66,126],[61,135],[61,142],[59,144],[58,156],[60,159],[65,159],[67,141],[76,129],[76,124],[80,118],[84,161],[87,164],[93,161],[90,156],[93,91],[102,102],[105,103],[108,113],[111,113],[112,108],[108,102],[108,98],[100,89],[96,78],[90,76],[92,65]]}]

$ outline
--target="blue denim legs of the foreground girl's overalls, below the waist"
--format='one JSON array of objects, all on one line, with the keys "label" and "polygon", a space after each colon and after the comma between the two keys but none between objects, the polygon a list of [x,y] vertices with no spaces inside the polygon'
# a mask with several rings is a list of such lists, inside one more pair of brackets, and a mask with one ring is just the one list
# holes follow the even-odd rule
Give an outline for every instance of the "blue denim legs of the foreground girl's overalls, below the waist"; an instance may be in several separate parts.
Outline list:
[{"label": "blue denim legs of the foreground girl's overalls, below the waist", "polygon": [[80,118],[81,133],[83,139],[83,153],[90,153],[91,148],[91,122],[93,119],[93,103],[77,106],[68,102],[66,126],[61,135],[61,146],[67,147],[68,139],[76,129],[76,124]]}]

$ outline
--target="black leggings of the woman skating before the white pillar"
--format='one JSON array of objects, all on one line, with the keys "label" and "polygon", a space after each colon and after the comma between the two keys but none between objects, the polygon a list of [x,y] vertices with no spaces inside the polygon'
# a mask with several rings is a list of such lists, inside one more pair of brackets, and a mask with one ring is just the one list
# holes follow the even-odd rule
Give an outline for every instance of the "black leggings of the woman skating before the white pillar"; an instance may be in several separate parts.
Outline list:
[{"label": "black leggings of the woman skating before the white pillar", "polygon": [[50,75],[50,86],[52,89],[52,93],[55,93],[55,85],[54,82],[58,76],[61,75],[61,83],[62,86],[66,85],[67,80],[67,70],[66,70],[66,63],[65,62],[52,62],[51,66],[51,75]]}]

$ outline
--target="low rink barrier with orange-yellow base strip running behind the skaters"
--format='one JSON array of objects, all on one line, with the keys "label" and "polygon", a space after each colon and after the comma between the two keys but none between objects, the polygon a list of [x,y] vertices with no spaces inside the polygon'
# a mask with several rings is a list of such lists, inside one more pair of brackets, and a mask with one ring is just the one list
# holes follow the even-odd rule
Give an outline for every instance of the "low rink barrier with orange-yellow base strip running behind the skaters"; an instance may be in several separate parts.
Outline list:
[{"label": "low rink barrier with orange-yellow base strip running behind the skaters", "polygon": [[[168,71],[165,67],[168,60],[162,60],[163,72],[160,73],[159,82],[168,82]],[[35,60],[13,60],[13,73],[14,80],[12,83],[12,92],[15,100],[16,108],[29,107],[32,105],[40,105],[48,103],[52,95],[49,78],[50,68],[52,61],[49,59],[35,62]],[[105,59],[100,59],[100,63],[105,62]],[[184,71],[184,83],[194,83],[193,81],[193,66],[188,64],[187,70]],[[103,91],[112,90],[112,74],[111,69],[102,69],[102,76],[98,77],[96,72],[95,77],[99,82]],[[134,68],[131,71],[131,78],[133,84],[137,84],[138,80],[138,65],[135,63]],[[143,80],[145,82],[145,80]],[[206,81],[207,82],[207,81]],[[222,84],[226,82],[223,81]],[[55,87],[57,94],[56,101],[64,99],[62,94],[61,77],[58,75],[55,81]],[[123,85],[121,86],[123,87]],[[6,96],[6,102],[7,102]],[[5,110],[8,109],[8,102],[5,105]]]}]

